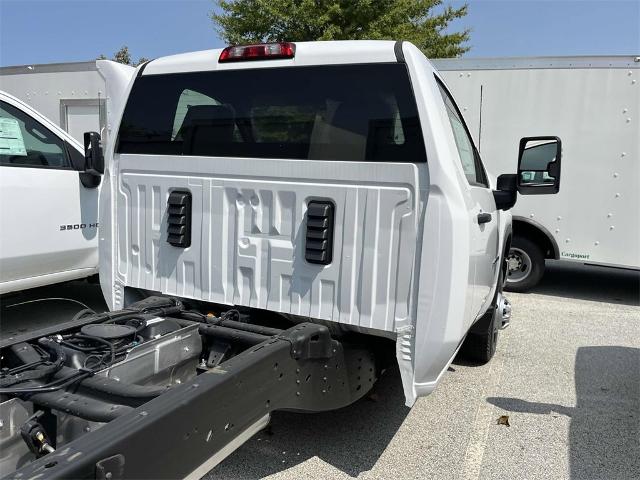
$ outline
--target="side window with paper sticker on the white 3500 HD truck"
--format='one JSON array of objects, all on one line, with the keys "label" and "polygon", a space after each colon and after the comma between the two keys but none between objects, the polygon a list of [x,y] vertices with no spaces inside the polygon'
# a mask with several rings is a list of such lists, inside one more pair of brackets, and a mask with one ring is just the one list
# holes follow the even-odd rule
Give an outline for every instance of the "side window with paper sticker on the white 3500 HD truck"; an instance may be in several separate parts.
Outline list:
[{"label": "side window with paper sticker on the white 3500 HD truck", "polygon": [[0,165],[70,167],[62,139],[6,102],[0,102]]}]

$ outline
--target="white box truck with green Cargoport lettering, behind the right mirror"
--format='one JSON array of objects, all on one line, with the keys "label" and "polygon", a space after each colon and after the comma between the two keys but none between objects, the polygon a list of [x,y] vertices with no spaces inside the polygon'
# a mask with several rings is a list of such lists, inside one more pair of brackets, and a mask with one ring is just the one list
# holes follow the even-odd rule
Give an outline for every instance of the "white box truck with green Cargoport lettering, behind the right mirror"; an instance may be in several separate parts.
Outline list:
[{"label": "white box truck with green Cargoport lettering, behind the right mirror", "polygon": [[513,209],[507,289],[525,291],[545,259],[640,269],[640,56],[435,60],[490,174],[524,135],[562,138],[553,198]]}]

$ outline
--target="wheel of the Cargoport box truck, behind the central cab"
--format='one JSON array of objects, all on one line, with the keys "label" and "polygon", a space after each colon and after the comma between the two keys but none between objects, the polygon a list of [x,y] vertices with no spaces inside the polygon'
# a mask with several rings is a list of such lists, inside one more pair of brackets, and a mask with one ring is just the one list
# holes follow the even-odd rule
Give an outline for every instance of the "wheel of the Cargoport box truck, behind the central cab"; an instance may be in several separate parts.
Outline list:
[{"label": "wheel of the Cargoport box truck, behind the central cab", "polygon": [[544,274],[544,253],[534,242],[514,237],[507,255],[507,282],[509,292],[526,292],[535,287]]}]

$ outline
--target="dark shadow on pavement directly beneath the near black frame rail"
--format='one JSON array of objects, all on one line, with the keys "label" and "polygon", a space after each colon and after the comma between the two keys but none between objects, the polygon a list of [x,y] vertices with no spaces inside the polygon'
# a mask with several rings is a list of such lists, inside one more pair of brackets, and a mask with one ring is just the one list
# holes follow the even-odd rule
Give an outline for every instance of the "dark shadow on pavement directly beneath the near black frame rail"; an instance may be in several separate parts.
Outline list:
[{"label": "dark shadow on pavement directly beneath the near black frame rail", "polygon": [[400,373],[390,369],[372,395],[354,405],[326,413],[274,413],[268,430],[255,435],[206,478],[263,478],[316,456],[357,477],[373,468],[408,413]]}]

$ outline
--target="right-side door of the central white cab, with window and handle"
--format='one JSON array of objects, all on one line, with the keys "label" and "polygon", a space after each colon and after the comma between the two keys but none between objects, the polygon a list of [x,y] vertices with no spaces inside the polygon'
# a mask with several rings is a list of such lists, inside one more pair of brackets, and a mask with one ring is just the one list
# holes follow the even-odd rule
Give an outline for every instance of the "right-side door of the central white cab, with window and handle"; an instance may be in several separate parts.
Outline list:
[{"label": "right-side door of the central white cab, with window and handle", "polygon": [[438,82],[447,115],[458,149],[462,169],[466,177],[466,189],[470,202],[469,228],[471,241],[471,265],[473,273],[473,308],[470,322],[484,312],[491,288],[495,283],[498,256],[498,212],[489,188],[489,181],[480,155],[464,122],[460,110],[441,82]]}]

